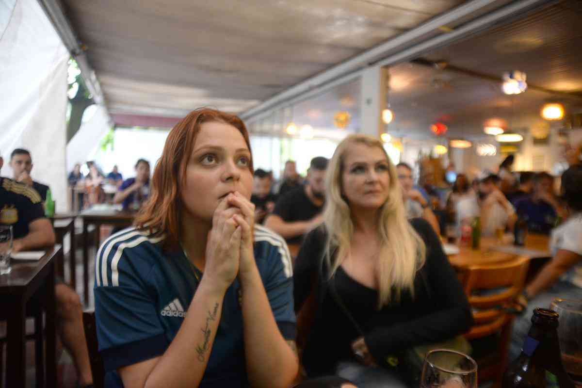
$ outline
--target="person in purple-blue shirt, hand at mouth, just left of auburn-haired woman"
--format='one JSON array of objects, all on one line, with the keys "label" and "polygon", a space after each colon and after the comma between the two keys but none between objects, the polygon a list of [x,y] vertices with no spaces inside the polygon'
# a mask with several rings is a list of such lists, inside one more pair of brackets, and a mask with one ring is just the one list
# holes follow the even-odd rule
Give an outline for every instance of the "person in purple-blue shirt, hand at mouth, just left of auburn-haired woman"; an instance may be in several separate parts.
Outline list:
[{"label": "person in purple-blue shirt, hand at mouth, just left of auburn-haired woman", "polygon": [[136,176],[123,181],[113,197],[114,204],[123,204],[125,211],[138,211],[150,194],[150,162],[138,159]]}]

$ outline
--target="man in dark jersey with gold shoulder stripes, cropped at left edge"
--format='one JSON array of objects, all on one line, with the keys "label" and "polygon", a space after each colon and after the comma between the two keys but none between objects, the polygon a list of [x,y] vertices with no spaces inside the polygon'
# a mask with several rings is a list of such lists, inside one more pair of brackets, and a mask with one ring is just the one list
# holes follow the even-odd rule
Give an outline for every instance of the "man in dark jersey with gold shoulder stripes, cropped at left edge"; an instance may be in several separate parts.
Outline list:
[{"label": "man in dark jersey with gold shoulder stripes, cropped at left edge", "polygon": [[[3,160],[0,157],[0,169]],[[12,225],[12,252],[51,247],[55,233],[45,218],[40,195],[33,188],[0,177],[0,225]],[[83,330],[83,312],[79,296],[57,281],[55,284],[56,327],[63,346],[73,357],[80,386],[90,386],[91,365]]]}]

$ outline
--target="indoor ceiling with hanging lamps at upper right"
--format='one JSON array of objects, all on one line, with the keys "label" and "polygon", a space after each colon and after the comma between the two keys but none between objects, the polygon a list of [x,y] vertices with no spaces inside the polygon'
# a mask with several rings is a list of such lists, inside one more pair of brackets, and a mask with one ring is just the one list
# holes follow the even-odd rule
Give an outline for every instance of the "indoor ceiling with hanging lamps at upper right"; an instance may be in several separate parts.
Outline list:
[{"label": "indoor ceiling with hanging lamps at upper right", "polygon": [[[562,102],[570,113],[582,112],[581,16],[582,1],[565,0],[423,56],[449,63],[444,70],[416,63],[393,66],[388,101],[395,119],[386,130],[398,137],[428,138],[430,125],[441,121],[449,127],[448,136],[479,138],[489,118],[503,118],[520,130],[544,124],[540,108],[547,101]],[[501,75],[510,70],[526,72],[532,87],[513,97],[503,94]],[[333,130],[333,114],[346,110],[353,118],[349,129],[355,130],[359,103],[346,108],[346,99],[359,101],[359,81],[297,104],[293,121]],[[269,118],[264,121],[268,124]],[[283,133],[282,126],[273,131]]]}]

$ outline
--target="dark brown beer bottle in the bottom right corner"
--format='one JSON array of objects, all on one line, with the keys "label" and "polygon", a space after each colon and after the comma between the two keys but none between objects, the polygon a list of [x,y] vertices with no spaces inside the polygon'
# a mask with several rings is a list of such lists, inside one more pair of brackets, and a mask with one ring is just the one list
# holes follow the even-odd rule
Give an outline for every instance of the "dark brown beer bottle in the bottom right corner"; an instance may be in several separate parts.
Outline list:
[{"label": "dark brown beer bottle in the bottom right corner", "polygon": [[536,308],[521,354],[503,375],[503,388],[575,388],[562,365],[558,313]]}]

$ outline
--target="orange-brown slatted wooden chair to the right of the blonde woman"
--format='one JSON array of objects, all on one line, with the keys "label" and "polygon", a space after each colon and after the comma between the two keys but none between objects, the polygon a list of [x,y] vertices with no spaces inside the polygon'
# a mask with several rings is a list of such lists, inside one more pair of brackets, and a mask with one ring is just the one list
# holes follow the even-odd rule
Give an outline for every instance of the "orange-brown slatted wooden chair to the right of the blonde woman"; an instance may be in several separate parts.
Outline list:
[{"label": "orange-brown slatted wooden chair to the right of the blonde woman", "polygon": [[[465,334],[468,340],[497,339],[497,346],[487,354],[474,355],[478,365],[478,380],[493,380],[501,385],[503,371],[508,362],[509,339],[513,315],[508,312],[513,302],[523,290],[529,265],[528,258],[519,257],[512,261],[491,265],[475,265],[467,269],[464,291],[473,308],[473,327]],[[495,292],[498,291],[498,292]]]}]

